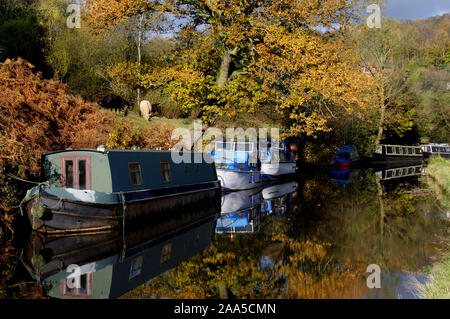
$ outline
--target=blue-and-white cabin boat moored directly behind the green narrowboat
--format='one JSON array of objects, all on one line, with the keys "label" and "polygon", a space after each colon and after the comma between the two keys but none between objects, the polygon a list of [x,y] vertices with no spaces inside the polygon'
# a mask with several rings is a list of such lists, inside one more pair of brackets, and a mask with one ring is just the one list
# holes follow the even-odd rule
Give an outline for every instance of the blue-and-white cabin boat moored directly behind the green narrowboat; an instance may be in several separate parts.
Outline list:
[{"label": "blue-and-white cabin boat moored directly behind the green narrowboat", "polygon": [[218,141],[211,153],[217,176],[226,191],[261,186],[257,146],[254,142]]}]

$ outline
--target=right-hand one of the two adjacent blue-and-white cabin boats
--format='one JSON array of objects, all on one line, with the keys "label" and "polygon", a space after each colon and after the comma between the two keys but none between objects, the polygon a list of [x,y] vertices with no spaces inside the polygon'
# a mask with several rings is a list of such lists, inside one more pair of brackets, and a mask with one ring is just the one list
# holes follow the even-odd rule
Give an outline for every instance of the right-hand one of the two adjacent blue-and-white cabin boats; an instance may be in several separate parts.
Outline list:
[{"label": "right-hand one of the two adjacent blue-and-white cabin boats", "polygon": [[293,159],[291,147],[287,140],[274,142],[271,139],[260,139],[259,160],[263,179],[293,175],[297,170],[297,164]]}]

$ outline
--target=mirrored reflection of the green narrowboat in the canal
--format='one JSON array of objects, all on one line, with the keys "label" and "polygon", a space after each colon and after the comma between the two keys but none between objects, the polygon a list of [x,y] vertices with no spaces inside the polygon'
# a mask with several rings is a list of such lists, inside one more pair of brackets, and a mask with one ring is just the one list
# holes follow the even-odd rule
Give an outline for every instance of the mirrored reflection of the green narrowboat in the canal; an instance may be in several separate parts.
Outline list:
[{"label": "mirrored reflection of the green narrowboat in the canal", "polygon": [[[34,232],[23,263],[54,298],[118,298],[201,253],[212,242],[219,202],[144,227],[71,237]],[[74,272],[75,270],[75,272]]]}]

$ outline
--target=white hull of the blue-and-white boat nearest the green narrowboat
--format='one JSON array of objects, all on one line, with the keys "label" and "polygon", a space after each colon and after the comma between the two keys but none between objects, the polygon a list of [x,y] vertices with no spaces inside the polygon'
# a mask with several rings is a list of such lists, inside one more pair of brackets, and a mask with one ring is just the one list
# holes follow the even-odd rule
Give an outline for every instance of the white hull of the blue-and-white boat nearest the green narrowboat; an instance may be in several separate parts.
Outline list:
[{"label": "white hull of the blue-and-white boat nearest the green narrowboat", "polygon": [[259,171],[239,171],[217,168],[217,177],[222,188],[227,191],[246,190],[261,187]]}]

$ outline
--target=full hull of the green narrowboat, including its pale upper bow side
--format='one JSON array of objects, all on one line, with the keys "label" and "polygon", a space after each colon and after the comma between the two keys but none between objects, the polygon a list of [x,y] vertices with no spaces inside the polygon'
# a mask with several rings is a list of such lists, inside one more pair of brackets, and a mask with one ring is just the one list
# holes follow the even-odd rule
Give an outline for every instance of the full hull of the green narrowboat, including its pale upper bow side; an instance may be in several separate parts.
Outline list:
[{"label": "full hull of the green narrowboat, including its pale upper bow side", "polygon": [[[101,193],[39,185],[21,203],[32,229],[62,235],[96,233],[167,211],[220,203],[220,182],[123,193]],[[183,218],[183,214],[179,214]]]}]

